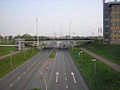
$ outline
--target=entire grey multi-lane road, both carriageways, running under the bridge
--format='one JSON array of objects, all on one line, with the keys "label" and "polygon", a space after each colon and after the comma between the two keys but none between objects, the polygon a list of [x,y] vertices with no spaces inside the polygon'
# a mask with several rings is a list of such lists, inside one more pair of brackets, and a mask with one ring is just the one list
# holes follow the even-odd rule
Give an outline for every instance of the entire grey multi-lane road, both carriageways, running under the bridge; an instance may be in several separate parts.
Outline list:
[{"label": "entire grey multi-lane road, both carriageways, running under the bridge", "polygon": [[[49,47],[62,47],[52,42]],[[40,53],[0,79],[0,90],[89,90],[68,50],[56,49],[55,58],[49,58],[51,49]]]}]

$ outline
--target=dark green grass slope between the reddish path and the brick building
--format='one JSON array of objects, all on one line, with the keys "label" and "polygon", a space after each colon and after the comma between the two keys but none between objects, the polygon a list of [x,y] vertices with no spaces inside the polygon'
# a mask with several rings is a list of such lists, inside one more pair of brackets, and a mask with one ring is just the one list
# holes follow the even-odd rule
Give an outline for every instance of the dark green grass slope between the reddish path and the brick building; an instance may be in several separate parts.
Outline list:
[{"label": "dark green grass slope between the reddish path and the brick building", "polygon": [[120,65],[120,45],[95,41],[84,48]]}]

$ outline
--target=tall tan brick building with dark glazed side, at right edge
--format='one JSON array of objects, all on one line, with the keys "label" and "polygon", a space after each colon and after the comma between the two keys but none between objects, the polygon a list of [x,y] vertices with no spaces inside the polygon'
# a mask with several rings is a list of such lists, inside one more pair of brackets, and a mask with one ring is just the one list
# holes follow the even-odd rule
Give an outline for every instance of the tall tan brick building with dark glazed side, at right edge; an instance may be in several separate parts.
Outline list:
[{"label": "tall tan brick building with dark glazed side, at right edge", "polygon": [[111,44],[120,44],[120,2],[103,1],[103,40]]}]

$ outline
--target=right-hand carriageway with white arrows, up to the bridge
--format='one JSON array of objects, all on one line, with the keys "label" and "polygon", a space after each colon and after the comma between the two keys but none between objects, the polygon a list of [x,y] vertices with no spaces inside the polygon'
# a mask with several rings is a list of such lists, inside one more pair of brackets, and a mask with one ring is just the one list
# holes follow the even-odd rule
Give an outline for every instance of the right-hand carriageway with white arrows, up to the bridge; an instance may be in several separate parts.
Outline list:
[{"label": "right-hand carriageway with white arrows, up to the bridge", "polygon": [[89,90],[67,50],[57,50],[45,77],[48,90]]}]

